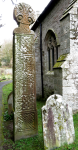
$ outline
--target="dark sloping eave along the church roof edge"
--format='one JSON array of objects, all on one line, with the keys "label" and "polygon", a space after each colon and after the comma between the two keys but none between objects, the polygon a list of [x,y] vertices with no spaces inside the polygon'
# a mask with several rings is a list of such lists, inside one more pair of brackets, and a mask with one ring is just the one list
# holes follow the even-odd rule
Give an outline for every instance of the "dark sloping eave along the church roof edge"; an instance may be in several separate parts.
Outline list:
[{"label": "dark sloping eave along the church roof edge", "polygon": [[35,31],[35,29],[39,26],[39,24],[45,19],[45,17],[49,14],[49,12],[52,10],[52,8],[58,3],[59,0],[51,0],[49,4],[45,7],[43,12],[40,14],[34,25],[32,26],[32,30]]}]

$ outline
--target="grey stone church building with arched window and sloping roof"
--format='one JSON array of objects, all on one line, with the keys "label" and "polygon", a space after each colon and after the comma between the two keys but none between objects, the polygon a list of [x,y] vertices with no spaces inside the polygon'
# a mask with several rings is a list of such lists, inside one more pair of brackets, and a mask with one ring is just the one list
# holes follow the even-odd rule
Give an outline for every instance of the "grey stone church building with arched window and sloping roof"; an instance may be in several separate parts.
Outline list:
[{"label": "grey stone church building with arched window and sloping roof", "polygon": [[36,94],[54,94],[78,111],[78,0],[51,0],[35,32]]}]

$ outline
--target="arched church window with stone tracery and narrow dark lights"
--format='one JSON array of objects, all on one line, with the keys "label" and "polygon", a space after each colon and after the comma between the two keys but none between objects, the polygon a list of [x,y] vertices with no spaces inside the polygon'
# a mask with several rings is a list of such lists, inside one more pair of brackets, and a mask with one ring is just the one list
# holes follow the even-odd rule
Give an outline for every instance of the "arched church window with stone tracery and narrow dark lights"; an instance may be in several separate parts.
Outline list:
[{"label": "arched church window with stone tracery and narrow dark lights", "polygon": [[53,70],[53,66],[58,59],[58,46],[56,42],[55,34],[49,30],[46,34],[46,46],[47,46],[47,56],[48,56],[48,71]]}]

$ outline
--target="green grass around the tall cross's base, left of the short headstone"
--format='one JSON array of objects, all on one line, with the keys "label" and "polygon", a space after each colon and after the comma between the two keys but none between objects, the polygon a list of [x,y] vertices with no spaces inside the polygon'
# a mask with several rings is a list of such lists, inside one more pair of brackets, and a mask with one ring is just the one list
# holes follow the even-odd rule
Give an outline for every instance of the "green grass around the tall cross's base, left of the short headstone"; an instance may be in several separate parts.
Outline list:
[{"label": "green grass around the tall cross's base, left of the short headstone", "polygon": [[[8,105],[7,97],[8,94],[12,91],[12,83],[7,84],[3,87],[3,103],[4,103],[4,121],[3,121],[3,134],[4,134],[4,149],[5,150],[44,150],[43,144],[43,131],[42,131],[42,119],[41,119],[41,107],[45,102],[37,102],[37,113],[38,113],[38,135],[35,137],[18,140],[15,143],[11,139],[11,133],[9,128],[9,123],[12,122],[8,115]],[[8,120],[9,118],[9,120]]]}]

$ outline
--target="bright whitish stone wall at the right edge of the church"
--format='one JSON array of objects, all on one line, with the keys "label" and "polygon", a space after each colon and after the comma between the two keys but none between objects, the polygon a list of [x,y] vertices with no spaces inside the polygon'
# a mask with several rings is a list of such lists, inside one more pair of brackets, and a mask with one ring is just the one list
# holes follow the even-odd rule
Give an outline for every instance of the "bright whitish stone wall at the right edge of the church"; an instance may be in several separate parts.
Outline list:
[{"label": "bright whitish stone wall at the right edge of the church", "polygon": [[63,97],[78,111],[78,1],[70,11],[70,55],[63,64]]}]

